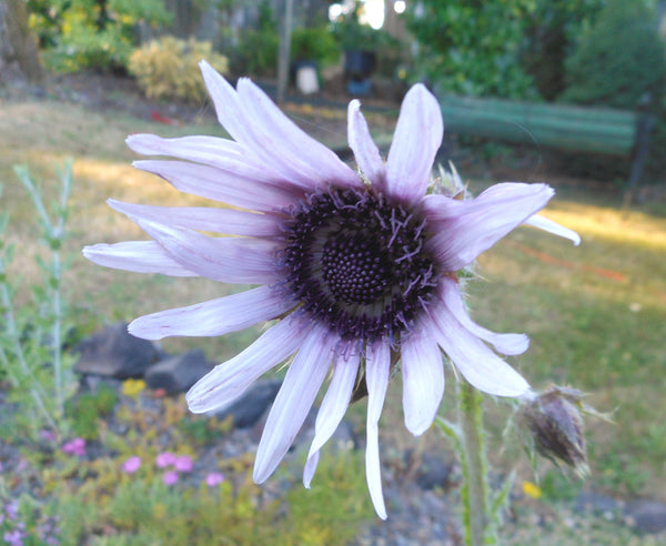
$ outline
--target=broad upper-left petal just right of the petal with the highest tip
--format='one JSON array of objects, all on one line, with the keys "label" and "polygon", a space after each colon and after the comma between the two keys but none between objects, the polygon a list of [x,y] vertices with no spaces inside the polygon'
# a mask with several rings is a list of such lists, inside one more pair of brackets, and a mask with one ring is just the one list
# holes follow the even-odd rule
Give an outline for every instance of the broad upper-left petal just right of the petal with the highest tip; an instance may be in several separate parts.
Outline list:
[{"label": "broad upper-left petal just right of the petal with the highest tip", "polygon": [[[252,127],[259,129],[263,125],[263,132],[275,142],[276,145],[266,150],[272,153],[273,160],[293,162],[299,170],[305,169],[301,174],[317,181],[322,188],[329,184],[361,186],[354,171],[335,153],[299,129],[252,81],[241,78],[238,94],[249,121],[255,121]],[[265,134],[262,136],[265,138]]]}]

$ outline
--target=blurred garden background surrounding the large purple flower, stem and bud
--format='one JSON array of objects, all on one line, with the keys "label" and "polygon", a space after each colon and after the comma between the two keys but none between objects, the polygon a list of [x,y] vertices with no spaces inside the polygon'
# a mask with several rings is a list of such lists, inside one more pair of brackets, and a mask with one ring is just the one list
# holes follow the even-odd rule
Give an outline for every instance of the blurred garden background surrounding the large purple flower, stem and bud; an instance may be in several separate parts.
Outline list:
[{"label": "blurred garden background surrounding the large purple flower, stem and bud", "polygon": [[143,236],[108,198],[206,204],[134,170],[124,144],[226,136],[201,59],[230,81],[250,75],[350,161],[349,101],[385,154],[402,97],[424,82],[444,113],[438,162],[473,193],[556,189],[544,215],[581,246],[516,230],[481,256],[468,303],[484,326],[529,335],[511,363],[536,390],[578,388],[612,419],[586,419],[582,481],[533,467],[505,427],[515,406],[485,401],[495,483],[515,472],[503,544],[664,544],[665,16],[664,0],[0,0],[0,544],[461,544],[460,467],[436,428],[404,429],[400,374],[380,426],[383,523],[365,485],[365,401],[311,491],[312,423],[258,487],[281,373],[246,418],[194,416],[182,366],[205,371],[260,330],[135,346],[118,326],[229,290],[80,252]]}]

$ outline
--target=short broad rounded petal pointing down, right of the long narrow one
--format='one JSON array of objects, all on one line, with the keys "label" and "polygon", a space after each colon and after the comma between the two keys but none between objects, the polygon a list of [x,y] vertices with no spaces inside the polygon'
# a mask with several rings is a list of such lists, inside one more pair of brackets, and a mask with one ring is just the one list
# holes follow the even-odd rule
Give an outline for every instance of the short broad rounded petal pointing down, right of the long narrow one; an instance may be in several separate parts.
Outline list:
[{"label": "short broad rounded petal pointing down, right of the long narrow one", "polygon": [[420,325],[402,343],[405,426],[420,436],[433,424],[444,395],[444,363],[437,342]]}]

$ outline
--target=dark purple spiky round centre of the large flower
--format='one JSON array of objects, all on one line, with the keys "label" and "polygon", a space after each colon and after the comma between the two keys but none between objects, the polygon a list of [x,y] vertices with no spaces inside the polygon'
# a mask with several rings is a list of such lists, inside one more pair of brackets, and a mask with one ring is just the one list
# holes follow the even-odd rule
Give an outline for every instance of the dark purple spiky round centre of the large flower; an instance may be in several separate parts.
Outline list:
[{"label": "dark purple spiky round centre of the large flower", "polygon": [[434,292],[425,228],[424,218],[372,190],[311,194],[285,225],[287,290],[346,342],[395,342]]}]

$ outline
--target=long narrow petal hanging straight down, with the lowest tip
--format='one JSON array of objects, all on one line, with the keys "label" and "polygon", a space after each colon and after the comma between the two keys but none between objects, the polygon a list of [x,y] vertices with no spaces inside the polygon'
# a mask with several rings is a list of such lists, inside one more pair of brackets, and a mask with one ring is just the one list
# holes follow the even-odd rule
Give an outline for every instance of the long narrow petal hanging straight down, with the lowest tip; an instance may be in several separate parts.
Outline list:
[{"label": "long narrow petal hanging straight down, with the lowest tip", "polygon": [[390,374],[391,348],[386,340],[381,340],[367,348],[365,358],[365,383],[367,385],[365,477],[372,504],[382,519],[386,519],[386,507],[382,493],[382,467],[380,464],[380,416],[386,397]]}]

